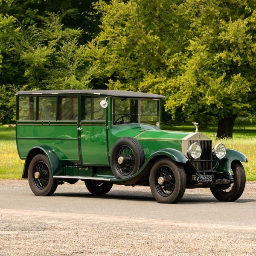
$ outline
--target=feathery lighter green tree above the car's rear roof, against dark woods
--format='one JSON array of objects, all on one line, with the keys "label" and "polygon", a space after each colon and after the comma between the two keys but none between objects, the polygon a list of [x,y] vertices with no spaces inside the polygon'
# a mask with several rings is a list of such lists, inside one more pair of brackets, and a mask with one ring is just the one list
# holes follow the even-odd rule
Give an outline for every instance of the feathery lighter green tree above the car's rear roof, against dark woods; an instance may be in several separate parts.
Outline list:
[{"label": "feathery lighter green tree above the car's rear roof, against dark woods", "polygon": [[79,45],[81,29],[64,28],[61,17],[48,14],[42,27],[23,29],[20,60],[24,63],[23,88],[32,90],[88,88],[90,78],[84,75],[84,46]]}]

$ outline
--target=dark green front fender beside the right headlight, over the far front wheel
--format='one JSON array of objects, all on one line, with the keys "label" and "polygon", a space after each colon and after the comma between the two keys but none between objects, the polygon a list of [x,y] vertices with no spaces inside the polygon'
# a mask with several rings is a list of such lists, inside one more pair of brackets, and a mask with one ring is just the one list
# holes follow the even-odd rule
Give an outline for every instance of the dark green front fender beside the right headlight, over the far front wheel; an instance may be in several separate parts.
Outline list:
[{"label": "dark green front fender beside the right headlight, over the far front wheel", "polygon": [[244,163],[248,162],[247,157],[243,153],[235,149],[227,148],[225,157],[218,161],[215,169],[226,172],[231,176],[231,163],[234,160],[238,160]]}]

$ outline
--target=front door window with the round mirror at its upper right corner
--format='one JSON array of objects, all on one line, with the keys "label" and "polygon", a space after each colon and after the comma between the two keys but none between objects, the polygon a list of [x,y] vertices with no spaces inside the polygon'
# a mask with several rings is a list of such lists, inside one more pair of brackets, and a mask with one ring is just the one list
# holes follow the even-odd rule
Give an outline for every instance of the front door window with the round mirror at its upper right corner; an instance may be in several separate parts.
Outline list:
[{"label": "front door window with the round mirror at its upper right corner", "polygon": [[105,97],[82,96],[81,120],[86,121],[105,121],[106,109],[100,106],[100,102]]}]

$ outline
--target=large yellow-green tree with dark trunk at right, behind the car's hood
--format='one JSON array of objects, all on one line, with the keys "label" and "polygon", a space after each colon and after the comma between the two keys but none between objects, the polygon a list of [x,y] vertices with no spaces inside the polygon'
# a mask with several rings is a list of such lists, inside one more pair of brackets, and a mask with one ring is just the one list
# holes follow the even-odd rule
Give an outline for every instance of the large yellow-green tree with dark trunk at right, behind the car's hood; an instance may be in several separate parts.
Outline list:
[{"label": "large yellow-green tree with dark trunk at right, behind the car's hood", "polygon": [[180,109],[215,116],[217,137],[232,137],[236,117],[255,114],[255,7],[246,0],[190,0],[177,7],[191,36],[182,73],[166,86],[173,116]]}]

